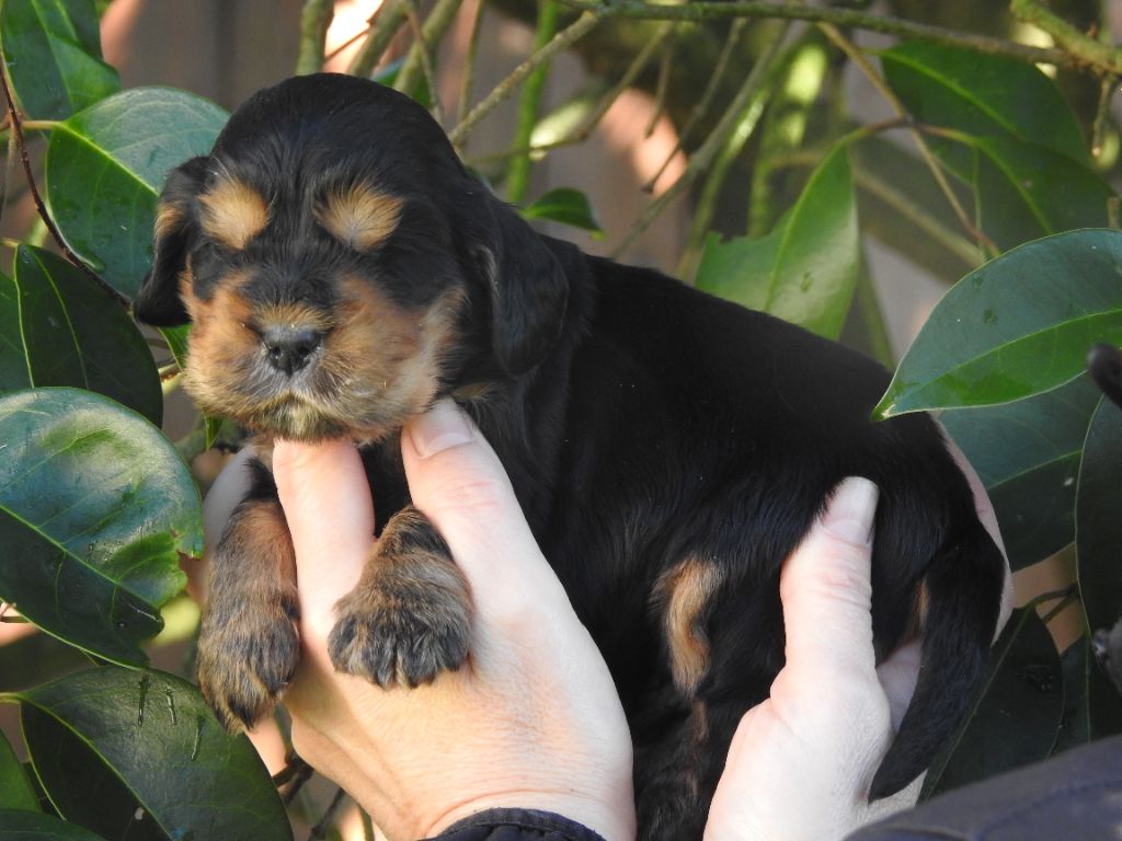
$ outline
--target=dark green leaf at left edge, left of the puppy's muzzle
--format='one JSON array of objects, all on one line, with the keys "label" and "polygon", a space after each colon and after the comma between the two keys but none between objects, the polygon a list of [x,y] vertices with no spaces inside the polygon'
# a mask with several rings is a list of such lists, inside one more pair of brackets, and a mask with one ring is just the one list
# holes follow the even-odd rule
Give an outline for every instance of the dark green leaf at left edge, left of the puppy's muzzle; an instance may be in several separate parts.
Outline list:
[{"label": "dark green leaf at left edge, left of the puppy's muzzle", "polygon": [[19,246],[13,279],[0,277],[0,392],[74,386],[164,413],[159,375],[136,324],[108,293],[61,257]]}]

